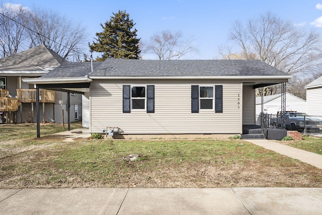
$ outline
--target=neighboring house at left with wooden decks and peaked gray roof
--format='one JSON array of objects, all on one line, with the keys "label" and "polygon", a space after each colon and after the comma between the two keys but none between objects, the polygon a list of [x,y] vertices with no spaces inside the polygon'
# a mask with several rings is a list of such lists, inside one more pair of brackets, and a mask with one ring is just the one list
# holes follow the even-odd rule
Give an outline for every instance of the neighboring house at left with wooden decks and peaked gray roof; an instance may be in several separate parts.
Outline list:
[{"label": "neighboring house at left with wooden decks and peaked gray roof", "polygon": [[[64,62],[62,57],[45,45],[0,59],[0,111],[4,112],[3,117],[7,122],[36,121],[35,86],[22,82],[22,79],[43,76]],[[39,94],[41,121],[62,123],[66,93],[40,89]],[[81,109],[82,96],[76,94],[74,97],[71,101]],[[79,112],[78,118],[81,116]]]}]

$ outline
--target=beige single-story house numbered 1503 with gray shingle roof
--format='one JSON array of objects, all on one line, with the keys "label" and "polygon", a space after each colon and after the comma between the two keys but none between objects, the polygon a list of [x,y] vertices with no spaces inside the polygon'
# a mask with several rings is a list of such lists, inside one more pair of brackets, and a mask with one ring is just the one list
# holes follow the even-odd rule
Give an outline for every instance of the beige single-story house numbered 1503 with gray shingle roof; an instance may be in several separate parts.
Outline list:
[{"label": "beige single-story house numbered 1503 with gray shingle roof", "polygon": [[76,64],[66,63],[46,77],[24,81],[83,93],[90,132],[113,129],[122,138],[243,133],[243,126],[256,124],[255,90],[291,78],[260,60],[106,59],[93,71],[88,66],[79,63],[78,75]]}]

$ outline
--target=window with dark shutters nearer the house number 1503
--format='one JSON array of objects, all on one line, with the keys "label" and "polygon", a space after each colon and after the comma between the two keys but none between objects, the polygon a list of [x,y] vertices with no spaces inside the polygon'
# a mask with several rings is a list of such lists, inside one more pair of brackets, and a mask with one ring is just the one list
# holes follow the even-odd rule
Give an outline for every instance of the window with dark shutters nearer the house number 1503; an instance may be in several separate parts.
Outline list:
[{"label": "window with dark shutters nearer the house number 1503", "polygon": [[222,85],[191,86],[191,112],[200,110],[215,110],[222,113]]}]

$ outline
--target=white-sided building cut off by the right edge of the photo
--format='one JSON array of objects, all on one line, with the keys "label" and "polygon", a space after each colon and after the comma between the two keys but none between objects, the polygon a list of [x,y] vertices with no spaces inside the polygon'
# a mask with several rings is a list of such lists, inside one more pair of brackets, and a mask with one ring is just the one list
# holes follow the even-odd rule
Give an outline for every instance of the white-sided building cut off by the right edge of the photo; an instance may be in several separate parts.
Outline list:
[{"label": "white-sided building cut off by the right edge of the photo", "polygon": [[305,86],[306,113],[311,116],[322,117],[322,77]]}]

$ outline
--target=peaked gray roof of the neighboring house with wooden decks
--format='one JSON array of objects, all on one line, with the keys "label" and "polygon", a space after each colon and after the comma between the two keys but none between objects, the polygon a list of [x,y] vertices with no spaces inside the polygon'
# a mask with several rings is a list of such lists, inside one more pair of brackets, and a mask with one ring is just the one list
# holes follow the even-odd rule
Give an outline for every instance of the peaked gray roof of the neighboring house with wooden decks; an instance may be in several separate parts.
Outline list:
[{"label": "peaked gray roof of the neighboring house with wooden decks", "polygon": [[44,71],[43,69],[53,69],[63,62],[63,58],[57,53],[45,45],[39,45],[1,58],[0,71]]}]

